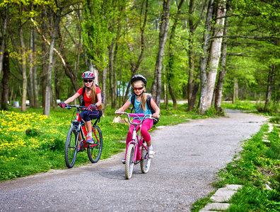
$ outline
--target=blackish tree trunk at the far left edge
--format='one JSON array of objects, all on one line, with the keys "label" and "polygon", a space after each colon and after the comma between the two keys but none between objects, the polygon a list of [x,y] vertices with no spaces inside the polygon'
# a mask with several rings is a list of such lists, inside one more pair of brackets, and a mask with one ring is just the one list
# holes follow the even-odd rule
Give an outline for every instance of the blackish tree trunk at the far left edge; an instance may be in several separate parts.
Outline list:
[{"label": "blackish tree trunk at the far left edge", "polygon": [[9,53],[4,51],[1,110],[8,110],[8,83],[10,82]]}]

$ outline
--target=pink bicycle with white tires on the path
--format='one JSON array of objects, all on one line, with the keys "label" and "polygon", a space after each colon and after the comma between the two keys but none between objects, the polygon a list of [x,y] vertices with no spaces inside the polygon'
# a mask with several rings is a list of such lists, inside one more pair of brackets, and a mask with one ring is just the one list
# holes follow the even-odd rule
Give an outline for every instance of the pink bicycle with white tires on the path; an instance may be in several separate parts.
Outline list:
[{"label": "pink bicycle with white tires on the path", "polygon": [[[150,169],[151,159],[148,158],[148,148],[146,142],[141,136],[141,124],[146,117],[148,119],[153,119],[151,114],[135,114],[127,112],[119,112],[118,114],[127,114],[129,123],[134,125],[132,133],[132,141],[127,144],[127,151],[125,154],[125,177],[130,179],[132,177],[132,172],[134,164],[140,163],[141,171],[147,173]],[[141,119],[140,123],[133,123],[131,117],[137,117]],[[138,133],[136,132],[136,126],[140,125]]]}]

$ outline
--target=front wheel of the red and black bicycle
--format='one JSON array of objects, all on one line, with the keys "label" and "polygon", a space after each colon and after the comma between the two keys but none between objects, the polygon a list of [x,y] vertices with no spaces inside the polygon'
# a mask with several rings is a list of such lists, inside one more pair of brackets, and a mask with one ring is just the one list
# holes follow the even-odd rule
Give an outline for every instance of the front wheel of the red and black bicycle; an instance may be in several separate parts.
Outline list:
[{"label": "front wheel of the red and black bicycle", "polygon": [[74,166],[78,153],[78,131],[76,126],[71,126],[66,136],[65,142],[65,163],[71,168]]}]

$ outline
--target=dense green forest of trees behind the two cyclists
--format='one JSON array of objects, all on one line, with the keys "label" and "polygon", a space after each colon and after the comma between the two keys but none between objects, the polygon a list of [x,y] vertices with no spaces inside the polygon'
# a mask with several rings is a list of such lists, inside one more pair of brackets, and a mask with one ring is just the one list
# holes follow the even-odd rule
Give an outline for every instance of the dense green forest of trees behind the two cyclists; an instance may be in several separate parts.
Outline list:
[{"label": "dense green forest of trees behind the two cyclists", "polygon": [[0,2],[3,110],[19,101],[25,111],[29,100],[49,116],[88,70],[104,108],[127,100],[135,74],[147,78],[158,105],[185,99],[187,110],[204,114],[221,100],[246,99],[265,101],[259,110],[278,108],[279,1]]}]

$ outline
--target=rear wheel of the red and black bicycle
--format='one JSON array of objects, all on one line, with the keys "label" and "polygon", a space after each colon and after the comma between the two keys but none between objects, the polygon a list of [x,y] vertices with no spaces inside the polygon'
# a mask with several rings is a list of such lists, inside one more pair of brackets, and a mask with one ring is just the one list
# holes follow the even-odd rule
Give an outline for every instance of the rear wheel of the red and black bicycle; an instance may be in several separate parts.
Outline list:
[{"label": "rear wheel of the red and black bicycle", "polygon": [[[99,126],[93,126],[93,145],[88,145],[87,152],[88,152],[88,159],[91,161],[91,163],[97,163],[100,159],[102,148],[103,148],[103,136],[102,131]],[[95,133],[94,133],[95,131]]]}]

